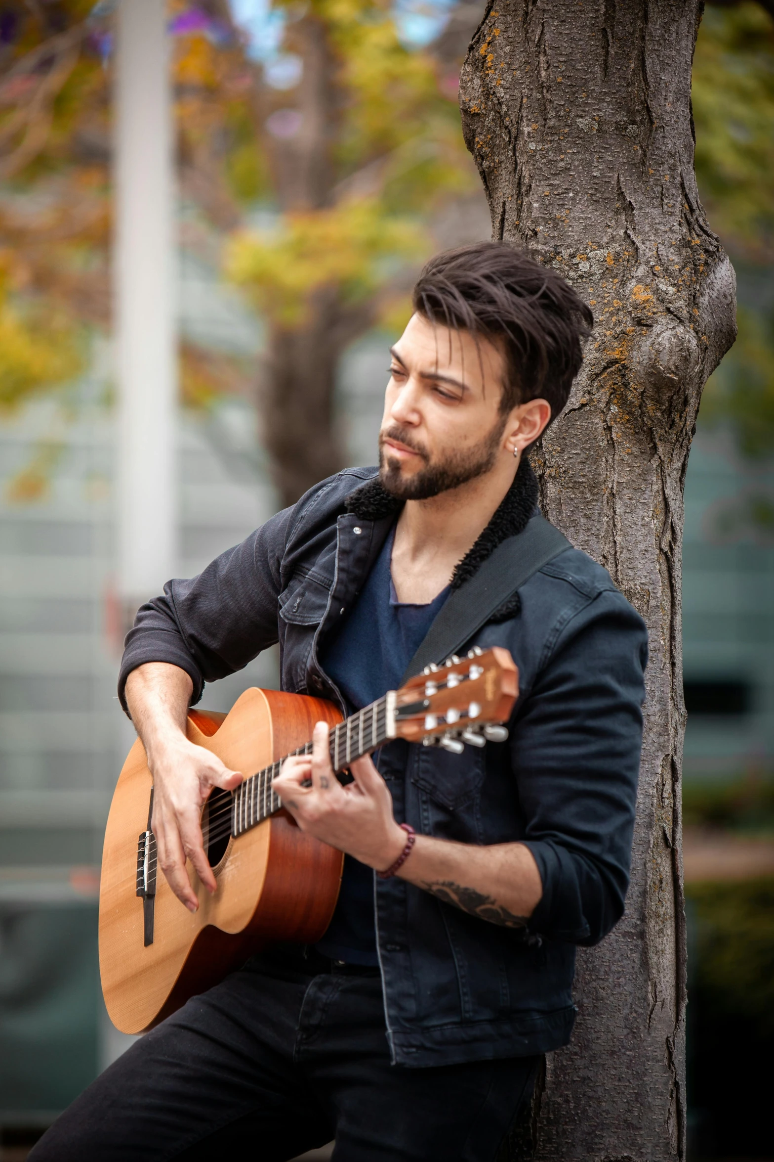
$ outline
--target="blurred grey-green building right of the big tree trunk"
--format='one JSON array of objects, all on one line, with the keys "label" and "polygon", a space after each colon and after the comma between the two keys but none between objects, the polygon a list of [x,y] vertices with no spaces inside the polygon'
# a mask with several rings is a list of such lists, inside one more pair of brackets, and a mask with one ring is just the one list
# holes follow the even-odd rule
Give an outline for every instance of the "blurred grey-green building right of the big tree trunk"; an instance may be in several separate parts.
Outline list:
[{"label": "blurred grey-green building right of the big tree trunk", "polygon": [[728,432],[697,435],[682,550],[687,781],[774,774],[772,496],[774,465],[743,460]]}]

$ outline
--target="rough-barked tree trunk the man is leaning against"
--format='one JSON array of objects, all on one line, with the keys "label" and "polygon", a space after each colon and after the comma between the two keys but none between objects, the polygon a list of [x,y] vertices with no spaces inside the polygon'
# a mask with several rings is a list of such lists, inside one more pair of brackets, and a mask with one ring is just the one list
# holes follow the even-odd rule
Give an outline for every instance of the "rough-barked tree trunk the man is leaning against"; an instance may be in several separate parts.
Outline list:
[{"label": "rough-barked tree trunk the man is leaning against", "polygon": [[562,271],[596,317],[533,454],[543,510],[650,632],[627,914],[579,951],[573,1041],[549,1057],[537,1142],[522,1127],[512,1156],[685,1154],[682,483],[702,386],[736,333],[733,271],[693,168],[700,14],[700,0],[500,0],[462,74],[494,237]]}]

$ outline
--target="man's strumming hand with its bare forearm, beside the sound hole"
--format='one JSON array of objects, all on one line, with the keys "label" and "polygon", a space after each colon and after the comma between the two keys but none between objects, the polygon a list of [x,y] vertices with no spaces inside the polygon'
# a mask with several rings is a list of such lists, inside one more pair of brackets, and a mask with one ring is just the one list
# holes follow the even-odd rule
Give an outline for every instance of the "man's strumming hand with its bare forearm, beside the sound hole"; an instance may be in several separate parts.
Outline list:
[{"label": "man's strumming hand with its bare forearm, beside the sound hole", "polygon": [[126,705],[153,775],[153,817],[159,867],[178,899],[195,912],[196,892],[186,868],[188,858],[204,887],[217,884],[204,852],[202,808],[216,787],[231,791],[243,781],[217,755],[186,738],[193,693],[188,674],[169,662],[138,666],[126,679]]}]

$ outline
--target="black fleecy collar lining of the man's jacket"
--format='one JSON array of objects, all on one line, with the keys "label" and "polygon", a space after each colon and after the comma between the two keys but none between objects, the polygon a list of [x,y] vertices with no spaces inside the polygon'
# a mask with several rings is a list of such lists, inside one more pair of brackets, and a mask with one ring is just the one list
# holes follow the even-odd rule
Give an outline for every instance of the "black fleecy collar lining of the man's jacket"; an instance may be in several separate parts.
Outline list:
[{"label": "black fleecy collar lining of the man's jacket", "polygon": [[[468,581],[507,537],[522,532],[536,504],[537,480],[529,460],[522,456],[513,483],[494,516],[451,574],[451,588],[458,589]],[[379,478],[372,476],[347,496],[345,505],[348,512],[359,516],[361,521],[382,521],[397,515],[403,508],[403,501],[391,496]]]}]

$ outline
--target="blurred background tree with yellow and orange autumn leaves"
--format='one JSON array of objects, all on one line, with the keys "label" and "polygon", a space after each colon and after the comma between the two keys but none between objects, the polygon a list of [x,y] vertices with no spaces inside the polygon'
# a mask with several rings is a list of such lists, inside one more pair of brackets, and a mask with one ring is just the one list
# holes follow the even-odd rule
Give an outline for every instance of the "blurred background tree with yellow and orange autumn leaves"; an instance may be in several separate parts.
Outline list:
[{"label": "blurred background tree with yellow and orange autumn leaves", "polygon": [[[66,382],[84,328],[109,327],[111,7],[0,15],[0,403]],[[479,6],[457,6],[433,52],[402,42],[386,0],[276,0],[258,44],[232,7],[169,6],[181,243],[218,261],[225,242],[267,327],[262,437],[291,503],[343,464],[343,350],[407,317],[418,265],[464,239],[460,201],[480,199],[456,98]],[[255,375],[190,342],[181,372],[195,406]]]}]

